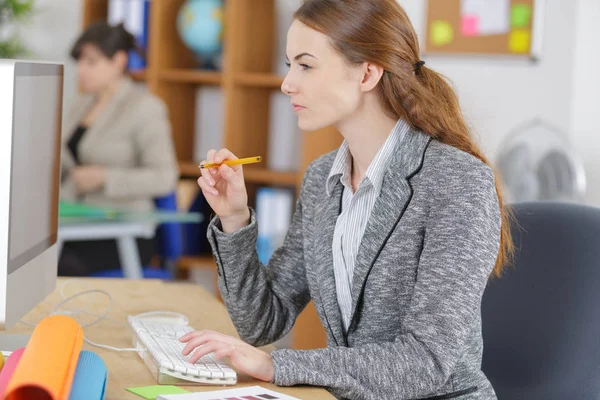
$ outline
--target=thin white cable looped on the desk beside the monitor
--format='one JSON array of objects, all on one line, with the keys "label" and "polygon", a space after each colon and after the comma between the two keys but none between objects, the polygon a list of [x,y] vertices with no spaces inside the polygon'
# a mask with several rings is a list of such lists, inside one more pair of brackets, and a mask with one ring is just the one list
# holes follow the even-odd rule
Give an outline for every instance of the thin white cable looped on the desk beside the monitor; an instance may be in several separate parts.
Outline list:
[{"label": "thin white cable looped on the desk beside the monitor", "polygon": [[[117,324],[119,324],[119,325],[121,325],[121,326],[124,326],[124,327],[126,327],[126,328],[128,327],[126,324],[124,324],[124,323],[122,323],[122,322],[120,322],[120,321],[117,321],[117,320],[114,320],[114,319],[112,319],[112,318],[109,318],[109,317],[108,317],[108,314],[110,313],[110,310],[111,310],[111,308],[112,308],[112,302],[113,302],[113,298],[112,298],[111,294],[110,294],[110,293],[108,293],[108,292],[107,292],[107,291],[105,291],[105,290],[100,290],[100,289],[88,289],[88,290],[84,290],[84,291],[81,291],[81,292],[75,293],[74,295],[71,295],[71,296],[69,296],[69,297],[66,297],[66,296],[65,296],[65,293],[64,293],[65,286],[67,285],[67,283],[69,283],[69,282],[73,282],[73,281],[80,281],[80,283],[84,283],[84,284],[86,284],[88,288],[90,288],[90,287],[91,287],[89,284],[87,284],[87,282],[85,282],[85,281],[82,281],[81,279],[78,279],[78,278],[69,278],[69,279],[65,280],[65,281],[62,283],[62,285],[60,286],[60,296],[61,296],[61,298],[62,298],[63,300],[62,300],[61,302],[59,302],[58,304],[56,304],[56,305],[55,305],[55,306],[52,308],[52,310],[50,311],[49,315],[59,315],[59,314],[62,314],[62,315],[69,315],[69,316],[73,316],[73,317],[75,317],[75,316],[78,316],[79,314],[87,314],[87,315],[91,315],[91,316],[94,316],[94,317],[96,317],[96,318],[97,318],[97,319],[96,319],[96,320],[94,320],[93,322],[90,322],[90,323],[87,323],[87,324],[82,324],[82,325],[81,325],[81,328],[82,328],[82,329],[83,329],[83,328],[90,327],[90,326],[92,326],[92,325],[95,325],[95,324],[97,324],[98,322],[100,322],[100,321],[103,321],[103,320],[105,320],[105,319],[106,319],[106,320],[109,320],[109,321],[111,321],[111,322],[117,323]],[[93,313],[93,312],[91,312],[91,311],[88,311],[88,310],[86,310],[86,309],[77,308],[77,307],[75,307],[75,308],[69,308],[69,309],[67,309],[66,311],[59,311],[59,309],[60,309],[61,307],[64,307],[64,305],[66,305],[67,303],[69,303],[69,302],[70,302],[70,301],[72,301],[73,299],[75,299],[75,298],[77,298],[77,297],[79,297],[79,296],[82,296],[82,295],[84,295],[84,294],[90,294],[90,295],[91,295],[91,296],[90,296],[90,302],[89,302],[89,305],[88,305],[88,307],[89,307],[89,308],[92,308],[92,306],[94,305],[94,298],[93,298],[93,296],[94,296],[94,293],[100,293],[100,294],[104,294],[104,295],[106,295],[106,296],[108,297],[108,299],[109,299],[109,304],[108,304],[108,307],[106,308],[106,311],[105,311],[103,314],[100,314],[100,315],[98,315],[98,314],[95,314],[95,313]],[[66,307],[65,307],[65,308],[66,308]],[[34,328],[35,328],[35,326],[36,326],[35,324],[31,324],[31,323],[29,323],[29,322],[26,322],[26,321],[22,321],[22,320],[21,320],[20,322],[21,322],[21,323],[23,323],[23,324],[25,324],[25,325],[28,325],[28,326],[34,327]],[[109,345],[105,345],[105,344],[96,343],[96,342],[93,342],[93,341],[91,341],[90,339],[86,338],[86,337],[85,337],[85,335],[84,335],[83,339],[85,340],[85,342],[86,342],[86,343],[88,343],[88,344],[90,344],[90,345],[92,345],[92,346],[100,347],[100,348],[107,349],[107,350],[113,350],[113,351],[119,351],[119,352],[134,352],[134,351],[135,351],[135,352],[140,352],[140,351],[142,351],[142,352],[143,352],[143,351],[146,351],[145,349],[136,349],[136,348],[119,348],[119,347],[113,347],[113,346],[109,346]]]}]

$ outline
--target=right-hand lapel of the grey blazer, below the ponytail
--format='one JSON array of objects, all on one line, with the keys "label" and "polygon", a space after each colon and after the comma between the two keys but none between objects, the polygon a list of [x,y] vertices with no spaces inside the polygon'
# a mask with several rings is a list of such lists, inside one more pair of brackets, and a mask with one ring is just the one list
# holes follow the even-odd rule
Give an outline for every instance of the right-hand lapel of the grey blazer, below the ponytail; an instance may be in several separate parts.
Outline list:
[{"label": "right-hand lapel of the grey blazer, below the ponytail", "polygon": [[430,141],[430,136],[422,132],[408,131],[400,140],[394,161],[384,176],[381,193],[375,201],[356,256],[352,279],[352,317],[348,332],[355,326],[357,306],[369,272],[410,203],[410,178],[421,169]]}]

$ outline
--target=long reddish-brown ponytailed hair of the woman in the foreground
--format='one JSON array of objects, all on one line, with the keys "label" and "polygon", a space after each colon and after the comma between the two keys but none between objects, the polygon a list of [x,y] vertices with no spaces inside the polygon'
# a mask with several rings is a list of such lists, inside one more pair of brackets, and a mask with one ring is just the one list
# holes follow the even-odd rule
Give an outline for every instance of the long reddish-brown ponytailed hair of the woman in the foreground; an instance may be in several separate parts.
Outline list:
[{"label": "long reddish-brown ponytailed hair of the woman in the foreground", "polygon": [[[305,0],[294,18],[327,35],[349,63],[368,61],[383,67],[379,93],[390,116],[491,166],[475,143],[446,78],[417,65],[417,35],[397,0]],[[496,192],[502,230],[493,274],[500,276],[511,261],[514,244],[510,234],[512,216],[503,206],[499,177]]]}]

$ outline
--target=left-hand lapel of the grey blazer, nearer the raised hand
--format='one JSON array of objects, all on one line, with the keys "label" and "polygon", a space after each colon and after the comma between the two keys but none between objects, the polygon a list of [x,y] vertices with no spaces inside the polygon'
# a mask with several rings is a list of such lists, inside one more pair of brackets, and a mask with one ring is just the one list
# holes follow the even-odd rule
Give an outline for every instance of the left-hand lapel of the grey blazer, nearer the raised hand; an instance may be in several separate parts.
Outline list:
[{"label": "left-hand lapel of the grey blazer, nearer the raised hand", "polygon": [[315,217],[321,224],[322,231],[315,235],[315,265],[317,277],[320,280],[319,296],[325,311],[325,318],[329,329],[338,346],[346,346],[346,338],[342,327],[342,314],[337,301],[335,275],[333,272],[333,232],[337,217],[340,213],[343,185],[338,184],[333,189],[331,197],[326,195],[324,201],[319,202]]}]

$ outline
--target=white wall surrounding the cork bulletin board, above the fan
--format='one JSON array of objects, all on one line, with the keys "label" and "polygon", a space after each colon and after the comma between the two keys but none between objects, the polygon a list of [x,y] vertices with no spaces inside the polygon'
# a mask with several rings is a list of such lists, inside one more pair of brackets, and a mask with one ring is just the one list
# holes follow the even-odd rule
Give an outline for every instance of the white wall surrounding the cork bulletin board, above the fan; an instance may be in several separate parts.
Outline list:
[{"label": "white wall surrounding the cork bulletin board, above the fan", "polygon": [[[423,43],[426,1],[399,1]],[[547,0],[544,48],[537,63],[502,57],[423,57],[455,84],[467,120],[492,160],[503,138],[532,118],[569,130],[575,21],[576,1]]]}]

